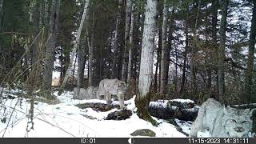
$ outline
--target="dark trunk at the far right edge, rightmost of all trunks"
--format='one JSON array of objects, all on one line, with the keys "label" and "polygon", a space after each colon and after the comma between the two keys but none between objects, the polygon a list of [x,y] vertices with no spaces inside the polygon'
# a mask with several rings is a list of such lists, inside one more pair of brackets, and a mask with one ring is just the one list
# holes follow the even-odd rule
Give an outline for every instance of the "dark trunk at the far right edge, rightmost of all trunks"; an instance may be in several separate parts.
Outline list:
[{"label": "dark trunk at the far right edge, rightmost of all trunks", "polygon": [[249,54],[247,61],[247,70],[246,70],[246,100],[247,102],[255,102],[255,98],[253,98],[252,91],[252,79],[253,79],[253,71],[254,71],[254,52],[255,52],[255,37],[256,37],[256,1],[254,2],[253,8],[253,18],[251,19],[250,26],[250,44],[249,44]]}]

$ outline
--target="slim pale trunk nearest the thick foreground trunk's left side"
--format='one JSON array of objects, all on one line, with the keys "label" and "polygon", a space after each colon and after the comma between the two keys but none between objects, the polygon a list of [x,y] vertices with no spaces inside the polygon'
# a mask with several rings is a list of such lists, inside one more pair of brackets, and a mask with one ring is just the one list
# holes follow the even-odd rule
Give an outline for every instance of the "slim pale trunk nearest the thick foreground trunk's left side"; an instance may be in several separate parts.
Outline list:
[{"label": "slim pale trunk nearest the thick foreground trunk's left side", "polygon": [[132,5],[131,16],[130,16],[129,61],[128,61],[128,76],[127,76],[128,87],[130,87],[130,78],[132,73],[133,49],[134,49],[134,4]]}]

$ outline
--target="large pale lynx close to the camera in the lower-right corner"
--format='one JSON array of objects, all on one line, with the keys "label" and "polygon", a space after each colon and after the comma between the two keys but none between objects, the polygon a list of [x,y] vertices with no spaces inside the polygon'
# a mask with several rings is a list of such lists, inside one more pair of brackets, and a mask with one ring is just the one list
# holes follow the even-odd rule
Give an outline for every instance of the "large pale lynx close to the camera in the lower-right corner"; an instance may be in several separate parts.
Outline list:
[{"label": "large pale lynx close to the camera in the lower-right corner", "polygon": [[190,137],[197,137],[198,132],[208,132],[214,138],[244,138],[252,129],[250,119],[253,110],[239,110],[222,106],[214,98],[202,103],[198,118],[194,121]]}]

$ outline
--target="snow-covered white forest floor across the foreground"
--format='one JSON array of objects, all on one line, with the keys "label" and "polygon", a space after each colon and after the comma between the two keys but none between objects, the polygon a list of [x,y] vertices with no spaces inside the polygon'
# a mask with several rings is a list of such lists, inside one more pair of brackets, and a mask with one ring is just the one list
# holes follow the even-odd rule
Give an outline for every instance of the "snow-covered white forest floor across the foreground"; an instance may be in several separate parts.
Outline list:
[{"label": "snow-covered white forest floor across the foreground", "polygon": [[[0,90],[1,91],[1,90]],[[95,111],[91,108],[84,110],[75,106],[86,102],[101,102],[103,100],[75,100],[73,92],[66,91],[60,96],[54,92],[60,103],[49,105],[45,102],[35,102],[34,104],[34,130],[30,130],[29,99],[18,98],[18,94],[26,94],[20,90],[4,90],[3,97],[0,99],[0,136],[1,137],[103,137],[103,138],[129,138],[135,130],[149,129],[154,131],[158,138],[185,138],[190,132],[192,122],[179,121],[175,119],[182,128],[178,128],[166,120],[154,118],[159,125],[152,126],[138,118],[134,98],[127,100],[127,109],[132,111],[130,118],[126,120],[105,120],[106,116],[118,109],[106,112]],[[8,98],[6,98],[8,97]],[[118,104],[117,101],[113,102]],[[85,117],[86,115],[86,117]],[[88,118],[89,117],[89,118]],[[27,130],[30,130],[28,133]]]}]

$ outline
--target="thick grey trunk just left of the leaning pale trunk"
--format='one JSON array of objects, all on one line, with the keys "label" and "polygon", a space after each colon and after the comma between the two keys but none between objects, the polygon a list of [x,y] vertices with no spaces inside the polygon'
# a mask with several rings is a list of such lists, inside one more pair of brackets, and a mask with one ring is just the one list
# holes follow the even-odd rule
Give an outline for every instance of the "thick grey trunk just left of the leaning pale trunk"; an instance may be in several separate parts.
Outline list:
[{"label": "thick grey trunk just left of the leaning pale trunk", "polygon": [[58,30],[58,13],[60,0],[53,0],[52,11],[50,16],[49,42],[46,44],[46,58],[42,75],[42,92],[48,99],[54,99],[51,94],[51,82],[54,68],[54,52],[56,45],[56,32]]}]

